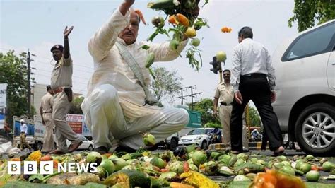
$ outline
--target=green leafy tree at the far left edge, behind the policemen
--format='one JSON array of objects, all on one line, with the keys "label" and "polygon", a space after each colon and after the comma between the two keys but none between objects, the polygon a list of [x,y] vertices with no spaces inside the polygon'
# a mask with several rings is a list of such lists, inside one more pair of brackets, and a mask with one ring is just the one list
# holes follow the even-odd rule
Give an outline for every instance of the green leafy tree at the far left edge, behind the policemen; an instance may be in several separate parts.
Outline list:
[{"label": "green leafy tree at the far left edge, behind the policemen", "polygon": [[33,117],[35,109],[28,112],[28,77],[26,66],[27,54],[21,53],[17,57],[14,51],[7,54],[0,53],[0,83],[7,83],[7,110],[6,122],[13,124],[13,116],[23,114]]}]

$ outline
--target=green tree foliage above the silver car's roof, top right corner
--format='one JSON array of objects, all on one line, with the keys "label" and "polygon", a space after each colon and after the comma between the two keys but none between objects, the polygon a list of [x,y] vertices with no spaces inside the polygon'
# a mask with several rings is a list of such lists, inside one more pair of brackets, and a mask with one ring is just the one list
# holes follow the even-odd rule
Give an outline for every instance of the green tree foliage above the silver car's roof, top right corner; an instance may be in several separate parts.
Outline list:
[{"label": "green tree foliage above the silver car's roof, top right corner", "polygon": [[299,32],[312,28],[315,21],[321,24],[335,18],[334,0],[295,0],[294,2],[294,16],[288,20],[288,26],[292,27],[292,23],[296,20]]}]

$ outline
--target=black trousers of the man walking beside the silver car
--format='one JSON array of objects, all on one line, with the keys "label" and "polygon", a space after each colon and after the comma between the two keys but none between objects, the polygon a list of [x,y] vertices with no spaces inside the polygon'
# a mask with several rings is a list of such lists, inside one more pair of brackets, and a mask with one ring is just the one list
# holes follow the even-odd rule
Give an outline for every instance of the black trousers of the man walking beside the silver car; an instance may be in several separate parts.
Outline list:
[{"label": "black trousers of the man walking beside the silver car", "polygon": [[278,118],[271,106],[271,91],[266,75],[252,74],[251,76],[241,76],[239,90],[243,98],[242,105],[238,104],[234,99],[230,119],[232,151],[243,151],[242,114],[249,100],[252,100],[257,107],[261,122],[263,122],[264,125],[264,131],[269,139],[270,150],[274,151],[279,146],[283,146],[283,138],[281,137]]}]

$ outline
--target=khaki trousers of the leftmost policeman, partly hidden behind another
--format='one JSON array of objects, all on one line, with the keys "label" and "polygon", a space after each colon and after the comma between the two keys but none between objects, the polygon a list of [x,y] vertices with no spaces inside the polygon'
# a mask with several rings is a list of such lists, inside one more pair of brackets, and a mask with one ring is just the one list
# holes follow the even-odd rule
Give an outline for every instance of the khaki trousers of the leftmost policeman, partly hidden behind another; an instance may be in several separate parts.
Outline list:
[{"label": "khaki trousers of the leftmost policeman, partly hidden behind another", "polygon": [[42,152],[49,153],[54,150],[54,123],[52,122],[52,113],[43,113],[45,120],[45,138],[43,139]]}]

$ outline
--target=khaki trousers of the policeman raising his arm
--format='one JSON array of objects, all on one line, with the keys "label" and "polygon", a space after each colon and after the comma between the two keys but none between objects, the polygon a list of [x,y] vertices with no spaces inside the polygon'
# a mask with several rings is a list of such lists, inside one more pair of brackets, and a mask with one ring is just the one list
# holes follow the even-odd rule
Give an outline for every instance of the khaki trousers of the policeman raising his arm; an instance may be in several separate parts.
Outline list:
[{"label": "khaki trousers of the policeman raising his arm", "polygon": [[66,146],[66,139],[71,143],[79,143],[81,139],[74,133],[66,122],[66,114],[69,112],[71,103],[67,99],[64,92],[54,95],[54,106],[52,110],[52,120],[54,121],[54,131],[57,139],[57,150],[61,152],[68,152]]}]

